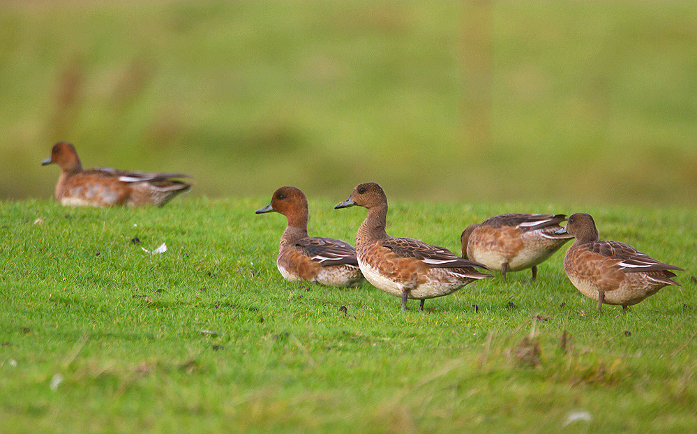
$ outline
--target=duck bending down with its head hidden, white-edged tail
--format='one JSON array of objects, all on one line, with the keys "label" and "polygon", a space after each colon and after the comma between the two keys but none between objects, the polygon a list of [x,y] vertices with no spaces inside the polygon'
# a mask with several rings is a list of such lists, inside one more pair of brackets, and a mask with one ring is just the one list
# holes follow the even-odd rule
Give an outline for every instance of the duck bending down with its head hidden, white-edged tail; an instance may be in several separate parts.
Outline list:
[{"label": "duck bending down with its head hidden, white-edged tail", "polygon": [[468,226],[460,235],[462,256],[501,271],[532,269],[537,279],[537,265],[547,260],[567,241],[569,234],[556,234],[567,219],[564,214],[510,213],[493,216]]}]

